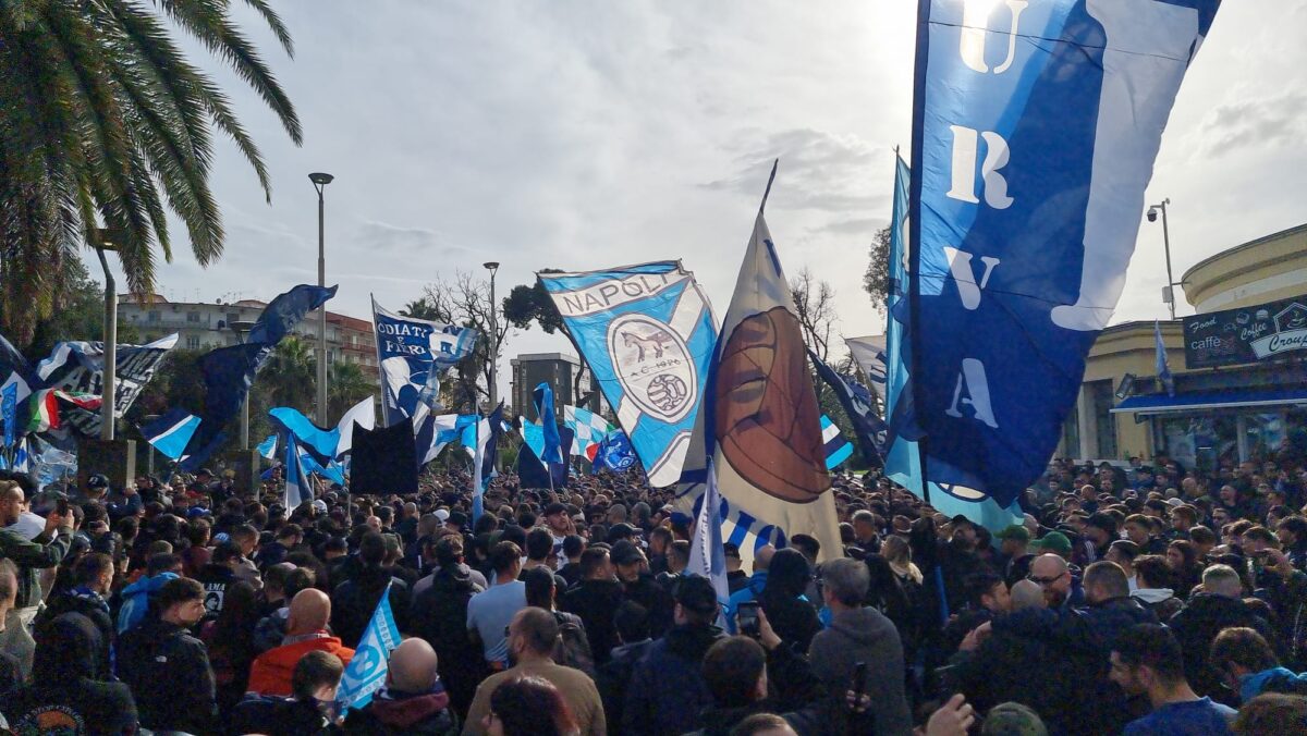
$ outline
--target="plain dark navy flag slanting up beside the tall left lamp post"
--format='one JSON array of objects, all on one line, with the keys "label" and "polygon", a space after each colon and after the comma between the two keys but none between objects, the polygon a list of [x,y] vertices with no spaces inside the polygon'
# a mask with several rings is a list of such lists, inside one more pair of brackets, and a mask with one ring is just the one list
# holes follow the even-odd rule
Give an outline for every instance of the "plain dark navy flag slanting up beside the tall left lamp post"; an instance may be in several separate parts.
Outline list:
[{"label": "plain dark navy flag slanting up beside the tall left lamp post", "polygon": [[204,374],[204,412],[200,426],[191,437],[182,469],[200,467],[226,439],[226,427],[240,410],[240,404],[254,384],[254,378],[267,362],[272,349],[310,311],[336,295],[336,286],[322,288],[301,284],[277,295],[255,320],[240,345],[218,348],[200,357]]}]

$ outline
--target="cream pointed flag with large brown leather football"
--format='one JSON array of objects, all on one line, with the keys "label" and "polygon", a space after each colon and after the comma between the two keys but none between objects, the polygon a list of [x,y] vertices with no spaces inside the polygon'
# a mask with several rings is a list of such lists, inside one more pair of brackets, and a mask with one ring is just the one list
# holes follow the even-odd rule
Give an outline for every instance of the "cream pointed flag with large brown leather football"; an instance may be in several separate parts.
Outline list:
[{"label": "cream pointed flag with large brown leather football", "polygon": [[808,349],[761,209],[721,323],[703,434],[708,482],[731,505],[791,537],[812,535],[823,557],[842,549]]}]

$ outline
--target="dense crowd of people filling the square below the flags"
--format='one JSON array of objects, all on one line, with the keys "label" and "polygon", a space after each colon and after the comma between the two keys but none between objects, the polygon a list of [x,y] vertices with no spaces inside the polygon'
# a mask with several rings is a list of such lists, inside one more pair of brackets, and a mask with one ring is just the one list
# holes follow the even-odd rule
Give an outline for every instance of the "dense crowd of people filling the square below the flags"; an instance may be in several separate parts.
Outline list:
[{"label": "dense crowd of people filling the square below the flags", "polygon": [[[991,533],[834,477],[840,549],[725,545],[637,473],[359,497],[0,473],[13,733],[1307,733],[1307,467],[1056,461]],[[774,543],[774,544],[769,544]],[[386,596],[403,641],[359,648]],[[357,658],[387,667],[337,702]]]}]

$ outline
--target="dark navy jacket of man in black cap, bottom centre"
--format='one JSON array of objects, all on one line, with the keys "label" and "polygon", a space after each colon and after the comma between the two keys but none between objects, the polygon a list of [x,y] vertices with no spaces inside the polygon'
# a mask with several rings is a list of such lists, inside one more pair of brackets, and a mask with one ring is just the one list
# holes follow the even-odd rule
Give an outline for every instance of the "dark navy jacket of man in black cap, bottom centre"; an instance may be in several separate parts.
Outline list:
[{"label": "dark navy jacket of man in black cap, bottom centre", "polygon": [[[631,673],[620,732],[680,736],[694,729],[699,711],[712,705],[703,680],[703,655],[723,638],[716,626],[680,624],[651,643]],[[676,686],[668,688],[668,682]]]}]

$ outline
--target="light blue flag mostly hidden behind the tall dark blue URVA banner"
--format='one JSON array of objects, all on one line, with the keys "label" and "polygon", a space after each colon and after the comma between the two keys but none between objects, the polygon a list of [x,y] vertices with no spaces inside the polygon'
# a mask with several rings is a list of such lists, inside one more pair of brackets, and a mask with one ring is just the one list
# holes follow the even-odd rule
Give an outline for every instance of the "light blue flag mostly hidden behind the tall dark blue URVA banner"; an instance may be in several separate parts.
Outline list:
[{"label": "light blue flag mostly hidden behind the tall dark blue URVA banner", "polygon": [[[912,384],[908,380],[911,335],[907,288],[907,213],[908,180],[911,171],[902,158],[895,158],[894,167],[894,213],[890,225],[889,269],[890,284],[886,294],[885,324],[885,418],[890,425],[885,448],[885,476],[906,488],[918,498],[929,499],[931,505],[948,516],[963,515],[991,532],[999,532],[1022,522],[1021,509],[1016,502],[1006,509],[999,506],[988,495],[966,489],[945,490],[937,482],[921,482],[921,455],[916,443],[916,430],[912,426]],[[864,369],[865,370],[865,369]]]}]

